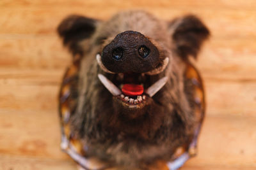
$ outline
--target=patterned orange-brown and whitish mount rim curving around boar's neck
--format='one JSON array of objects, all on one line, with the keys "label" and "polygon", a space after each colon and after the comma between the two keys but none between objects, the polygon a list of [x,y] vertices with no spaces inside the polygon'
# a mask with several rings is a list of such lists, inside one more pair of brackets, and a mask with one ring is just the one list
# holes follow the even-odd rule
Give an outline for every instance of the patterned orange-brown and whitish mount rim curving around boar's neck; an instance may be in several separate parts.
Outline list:
[{"label": "patterned orange-brown and whitish mount rim curving around boar's neck", "polygon": [[[114,170],[122,169],[122,167],[109,167],[106,162],[102,162],[95,158],[86,157],[86,146],[83,146],[74,134],[70,131],[70,115],[74,114],[77,104],[77,85],[80,60],[79,56],[74,58],[72,66],[68,67],[63,78],[60,90],[60,120],[61,120],[61,148],[68,153],[79,166],[88,170]],[[198,122],[193,141],[187,145],[177,148],[170,162],[156,160],[148,165],[148,170],[174,170],[181,167],[189,157],[196,155],[196,143],[202,121],[204,120],[205,101],[204,88],[202,80],[195,67],[187,63],[186,72],[184,74],[186,82],[193,85],[194,113]],[[186,147],[189,146],[189,147]],[[188,149],[186,149],[188,148]],[[135,169],[134,169],[135,170]]]}]

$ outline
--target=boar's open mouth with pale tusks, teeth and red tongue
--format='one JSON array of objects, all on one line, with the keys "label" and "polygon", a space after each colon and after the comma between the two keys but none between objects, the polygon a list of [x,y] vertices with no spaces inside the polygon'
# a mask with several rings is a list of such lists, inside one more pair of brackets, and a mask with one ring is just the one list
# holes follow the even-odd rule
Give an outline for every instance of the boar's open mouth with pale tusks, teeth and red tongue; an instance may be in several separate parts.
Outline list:
[{"label": "boar's open mouth with pale tusks, teeth and red tongue", "polygon": [[150,85],[149,78],[151,74],[113,73],[104,67],[99,54],[97,54],[96,58],[101,69],[106,73],[112,74],[111,81],[103,74],[98,74],[99,80],[106,87],[106,89],[108,89],[109,92],[116,97],[116,99],[130,108],[143,105],[145,101],[147,101],[147,98],[154,96],[159,90],[162,89],[168,80],[168,78],[164,76]]}]

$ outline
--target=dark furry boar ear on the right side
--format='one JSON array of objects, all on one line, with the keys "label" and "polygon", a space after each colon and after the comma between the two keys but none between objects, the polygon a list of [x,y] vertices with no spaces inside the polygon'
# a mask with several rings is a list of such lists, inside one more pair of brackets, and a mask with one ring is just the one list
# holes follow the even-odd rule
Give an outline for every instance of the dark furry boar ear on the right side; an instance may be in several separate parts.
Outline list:
[{"label": "dark furry boar ear on the right side", "polygon": [[184,59],[189,55],[196,58],[200,46],[210,34],[202,21],[194,15],[176,18],[168,26],[177,53]]}]

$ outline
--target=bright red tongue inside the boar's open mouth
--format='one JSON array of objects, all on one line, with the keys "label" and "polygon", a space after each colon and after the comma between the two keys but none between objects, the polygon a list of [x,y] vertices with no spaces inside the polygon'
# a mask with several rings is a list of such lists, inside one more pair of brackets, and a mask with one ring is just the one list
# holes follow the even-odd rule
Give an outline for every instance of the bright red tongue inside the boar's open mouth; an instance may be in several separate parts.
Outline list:
[{"label": "bright red tongue inside the boar's open mouth", "polygon": [[140,96],[143,94],[144,88],[142,85],[134,85],[134,84],[124,84],[122,87],[122,92],[126,96]]}]

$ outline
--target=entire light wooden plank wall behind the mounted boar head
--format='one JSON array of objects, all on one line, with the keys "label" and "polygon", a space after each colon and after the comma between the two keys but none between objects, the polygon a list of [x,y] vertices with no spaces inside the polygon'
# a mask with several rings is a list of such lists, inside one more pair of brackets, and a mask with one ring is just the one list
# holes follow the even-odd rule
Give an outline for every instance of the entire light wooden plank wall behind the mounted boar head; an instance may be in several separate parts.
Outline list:
[{"label": "entire light wooden plank wall behind the mounted boar head", "polygon": [[194,13],[212,32],[197,64],[207,117],[198,156],[182,169],[256,169],[255,0],[1,0],[0,169],[76,169],[60,150],[57,94],[70,57],[56,25],[70,13],[107,19],[131,8],[164,20]]}]

